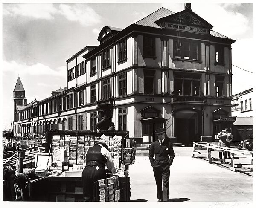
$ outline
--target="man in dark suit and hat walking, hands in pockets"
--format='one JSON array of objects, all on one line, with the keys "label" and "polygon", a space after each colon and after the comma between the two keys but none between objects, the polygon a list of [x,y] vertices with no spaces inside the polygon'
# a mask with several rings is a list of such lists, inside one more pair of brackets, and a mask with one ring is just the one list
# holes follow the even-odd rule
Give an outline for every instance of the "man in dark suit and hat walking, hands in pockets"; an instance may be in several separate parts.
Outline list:
[{"label": "man in dark suit and hat walking, hands in pockets", "polygon": [[[175,154],[172,142],[165,136],[164,128],[157,128],[155,135],[157,136],[157,140],[151,143],[148,157],[153,167],[157,184],[158,202],[169,201],[170,165],[172,165]],[[170,158],[168,155],[170,155]],[[154,156],[155,158],[153,159]]]}]

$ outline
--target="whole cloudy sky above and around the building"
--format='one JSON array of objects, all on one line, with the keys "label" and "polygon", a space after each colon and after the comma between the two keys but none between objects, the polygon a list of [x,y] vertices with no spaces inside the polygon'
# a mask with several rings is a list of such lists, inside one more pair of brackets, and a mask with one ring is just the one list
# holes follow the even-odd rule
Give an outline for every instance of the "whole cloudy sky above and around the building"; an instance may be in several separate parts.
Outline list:
[{"label": "whole cloudy sky above and around the building", "polygon": [[[7,3],[2,4],[2,124],[11,128],[13,90],[20,76],[27,103],[66,87],[66,60],[85,46],[97,46],[104,26],[125,28],[165,7],[184,3]],[[171,1],[168,1],[171,2]],[[178,1],[177,1],[178,2]],[[233,94],[254,87],[253,4],[193,3],[191,9],[232,44]],[[238,67],[241,69],[239,69]],[[244,70],[243,70],[244,69]],[[247,72],[247,71],[250,72]]]}]

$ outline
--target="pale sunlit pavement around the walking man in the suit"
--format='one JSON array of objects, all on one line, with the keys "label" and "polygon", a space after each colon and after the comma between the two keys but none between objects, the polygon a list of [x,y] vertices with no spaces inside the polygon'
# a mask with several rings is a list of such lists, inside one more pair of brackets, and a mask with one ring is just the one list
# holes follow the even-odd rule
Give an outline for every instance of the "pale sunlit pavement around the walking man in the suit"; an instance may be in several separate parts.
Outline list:
[{"label": "pale sunlit pavement around the walking man in the suit", "polygon": [[[253,176],[233,172],[207,160],[191,158],[192,147],[177,147],[170,168],[172,202],[251,202]],[[148,156],[136,156],[129,166],[131,201],[156,202],[153,170]]]}]

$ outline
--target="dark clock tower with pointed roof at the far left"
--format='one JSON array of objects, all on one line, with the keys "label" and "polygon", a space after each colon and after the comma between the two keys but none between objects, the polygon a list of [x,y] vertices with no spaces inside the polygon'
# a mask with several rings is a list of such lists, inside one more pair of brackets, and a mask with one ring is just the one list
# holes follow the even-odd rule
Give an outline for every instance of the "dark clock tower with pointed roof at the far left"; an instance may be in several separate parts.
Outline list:
[{"label": "dark clock tower with pointed roof at the far left", "polygon": [[13,90],[13,100],[14,100],[14,119],[15,119],[15,113],[17,110],[19,110],[17,106],[27,105],[25,90],[21,83],[20,76],[18,77],[15,88]]}]

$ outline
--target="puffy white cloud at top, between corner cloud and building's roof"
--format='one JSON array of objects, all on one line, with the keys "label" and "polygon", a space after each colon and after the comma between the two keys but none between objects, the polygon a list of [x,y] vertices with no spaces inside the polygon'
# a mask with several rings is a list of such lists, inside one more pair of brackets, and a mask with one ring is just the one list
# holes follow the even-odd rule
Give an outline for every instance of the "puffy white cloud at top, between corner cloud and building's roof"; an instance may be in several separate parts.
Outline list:
[{"label": "puffy white cloud at top, between corner cloud and building's roof", "polygon": [[60,4],[59,12],[67,20],[79,22],[83,26],[95,25],[101,21],[99,14],[86,4]]}]

